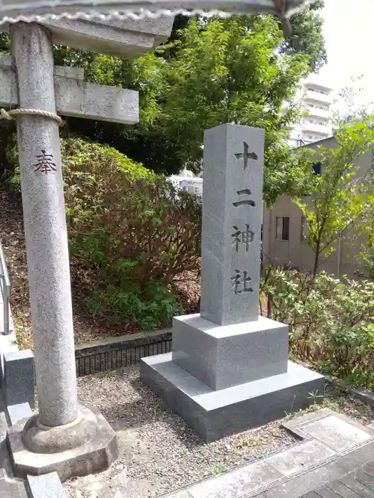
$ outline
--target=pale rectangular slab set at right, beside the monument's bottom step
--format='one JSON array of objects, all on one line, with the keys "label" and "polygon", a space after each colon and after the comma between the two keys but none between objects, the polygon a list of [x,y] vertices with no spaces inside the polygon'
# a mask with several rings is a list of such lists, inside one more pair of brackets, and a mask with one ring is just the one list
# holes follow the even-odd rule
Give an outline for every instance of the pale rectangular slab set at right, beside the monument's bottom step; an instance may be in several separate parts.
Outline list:
[{"label": "pale rectangular slab set at right, beside the monument's bottom step", "polygon": [[303,431],[336,451],[347,450],[372,438],[369,433],[335,415],[308,423],[303,426]]}]

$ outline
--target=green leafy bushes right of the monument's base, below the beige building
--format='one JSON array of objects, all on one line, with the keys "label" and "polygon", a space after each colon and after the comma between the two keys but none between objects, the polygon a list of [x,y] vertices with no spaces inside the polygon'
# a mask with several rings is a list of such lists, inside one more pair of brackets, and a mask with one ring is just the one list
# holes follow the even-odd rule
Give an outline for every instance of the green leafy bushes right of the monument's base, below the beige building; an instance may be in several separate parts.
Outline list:
[{"label": "green leafy bushes right of the monument's base, below the beige building", "polygon": [[347,383],[374,386],[374,282],[269,268],[262,292],[271,317],[289,324],[292,355]]}]

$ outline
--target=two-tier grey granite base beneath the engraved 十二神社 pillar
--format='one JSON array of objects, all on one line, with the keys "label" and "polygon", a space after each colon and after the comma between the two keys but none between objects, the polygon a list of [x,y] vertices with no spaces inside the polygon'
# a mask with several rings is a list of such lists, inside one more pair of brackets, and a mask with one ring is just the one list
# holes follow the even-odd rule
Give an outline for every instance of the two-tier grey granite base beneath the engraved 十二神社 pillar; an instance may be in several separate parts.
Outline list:
[{"label": "two-tier grey granite base beneath the engraved \u5341\u4e8c\u795e\u793e pillar", "polygon": [[175,318],[172,353],[142,359],[140,378],[212,441],[323,401],[323,376],[287,349],[287,327],[273,320],[219,327],[187,315]]}]

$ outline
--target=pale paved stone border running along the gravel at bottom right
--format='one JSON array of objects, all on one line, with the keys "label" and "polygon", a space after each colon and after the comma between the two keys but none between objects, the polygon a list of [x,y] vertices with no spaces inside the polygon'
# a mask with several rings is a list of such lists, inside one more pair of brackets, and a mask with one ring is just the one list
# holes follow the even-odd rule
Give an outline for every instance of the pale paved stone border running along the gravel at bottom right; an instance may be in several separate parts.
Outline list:
[{"label": "pale paved stone border running along the gravel at bottom right", "polygon": [[[331,416],[338,424],[325,425],[325,432],[322,427],[319,437],[303,432],[303,427],[308,424],[318,423]],[[344,427],[339,421],[351,426],[348,444]],[[208,495],[210,498],[301,498],[373,461],[374,431],[346,415],[324,408],[317,413],[296,417],[283,425],[301,438],[301,442],[164,494],[161,498],[201,498]],[[339,442],[337,447],[331,446],[334,434]]]}]

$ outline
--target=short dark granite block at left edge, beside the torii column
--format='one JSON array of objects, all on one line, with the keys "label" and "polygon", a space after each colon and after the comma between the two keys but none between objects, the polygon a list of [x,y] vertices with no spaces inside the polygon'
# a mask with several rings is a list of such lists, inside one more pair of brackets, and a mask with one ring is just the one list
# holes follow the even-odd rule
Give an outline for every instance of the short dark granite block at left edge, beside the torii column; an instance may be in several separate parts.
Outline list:
[{"label": "short dark granite block at left edge, beside the torii column", "polygon": [[35,405],[33,352],[30,349],[4,354],[4,388],[6,405]]}]

